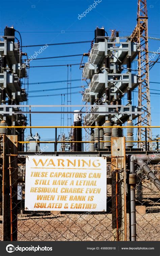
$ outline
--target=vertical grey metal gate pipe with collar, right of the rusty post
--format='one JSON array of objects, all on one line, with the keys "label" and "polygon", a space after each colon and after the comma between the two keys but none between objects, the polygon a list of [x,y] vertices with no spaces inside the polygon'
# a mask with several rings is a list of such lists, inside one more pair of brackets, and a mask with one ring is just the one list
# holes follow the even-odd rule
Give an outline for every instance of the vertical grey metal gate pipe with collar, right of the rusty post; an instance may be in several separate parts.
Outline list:
[{"label": "vertical grey metal gate pipe with collar, right of the rusty post", "polygon": [[[135,174],[135,162],[130,159],[130,174]],[[136,196],[135,196],[135,182],[132,181],[130,184],[130,240],[136,241]]]}]

